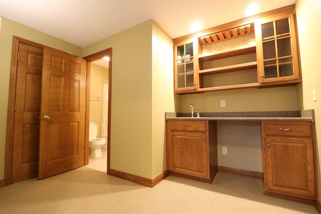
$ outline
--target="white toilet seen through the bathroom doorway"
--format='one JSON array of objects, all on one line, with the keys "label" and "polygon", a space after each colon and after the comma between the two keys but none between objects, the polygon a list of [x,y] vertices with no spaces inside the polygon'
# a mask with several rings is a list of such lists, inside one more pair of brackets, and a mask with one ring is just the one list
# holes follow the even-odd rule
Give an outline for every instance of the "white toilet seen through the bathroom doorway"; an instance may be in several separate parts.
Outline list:
[{"label": "white toilet seen through the bathroom doorway", "polygon": [[98,125],[93,122],[89,122],[89,157],[101,157],[101,146],[106,143],[104,138],[96,138]]}]

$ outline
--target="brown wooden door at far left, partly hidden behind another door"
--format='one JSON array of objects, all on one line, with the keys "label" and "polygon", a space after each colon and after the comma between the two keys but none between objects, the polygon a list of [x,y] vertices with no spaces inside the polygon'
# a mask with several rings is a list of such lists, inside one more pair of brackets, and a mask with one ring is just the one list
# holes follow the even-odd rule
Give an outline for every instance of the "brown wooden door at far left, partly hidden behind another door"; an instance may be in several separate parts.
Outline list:
[{"label": "brown wooden door at far left, partly hidden behind another door", "polygon": [[38,175],[43,49],[19,43],[12,182]]}]

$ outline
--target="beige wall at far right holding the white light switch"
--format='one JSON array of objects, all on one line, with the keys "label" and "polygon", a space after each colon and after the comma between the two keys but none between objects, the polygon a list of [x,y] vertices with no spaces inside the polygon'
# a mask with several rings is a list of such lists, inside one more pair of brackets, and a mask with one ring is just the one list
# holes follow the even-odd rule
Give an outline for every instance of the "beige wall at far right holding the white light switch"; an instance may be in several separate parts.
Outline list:
[{"label": "beige wall at far right holding the white light switch", "polygon": [[[318,27],[321,20],[321,5],[319,1],[297,0],[295,4],[297,29],[300,44],[301,69],[302,69],[302,97],[303,108],[314,109],[316,131],[316,157],[318,170],[318,186],[320,179],[321,144],[321,41],[315,35],[321,34]],[[312,99],[312,89],[316,89],[317,101]],[[319,188],[320,189],[320,188]],[[321,198],[321,191],[318,191]]]}]

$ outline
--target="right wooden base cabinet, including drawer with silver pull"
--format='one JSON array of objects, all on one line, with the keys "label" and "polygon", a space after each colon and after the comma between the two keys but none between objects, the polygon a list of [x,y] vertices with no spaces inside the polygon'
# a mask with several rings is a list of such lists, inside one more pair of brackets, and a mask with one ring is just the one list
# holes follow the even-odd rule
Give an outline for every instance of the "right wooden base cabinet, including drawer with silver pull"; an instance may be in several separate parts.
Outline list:
[{"label": "right wooden base cabinet, including drawer with silver pull", "polygon": [[262,121],[264,191],[305,203],[316,200],[312,122]]}]

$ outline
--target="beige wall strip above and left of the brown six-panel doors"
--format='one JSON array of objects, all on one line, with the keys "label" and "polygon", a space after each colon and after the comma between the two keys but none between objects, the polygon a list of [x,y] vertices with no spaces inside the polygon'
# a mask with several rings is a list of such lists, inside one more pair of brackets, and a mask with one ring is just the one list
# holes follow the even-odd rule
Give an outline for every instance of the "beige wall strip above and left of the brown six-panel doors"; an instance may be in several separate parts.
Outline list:
[{"label": "beige wall strip above and left of the brown six-panel doors", "polygon": [[5,179],[8,96],[12,41],[14,35],[76,56],[81,56],[82,54],[82,49],[78,46],[59,40],[6,18],[2,18],[0,32],[0,180]]}]

